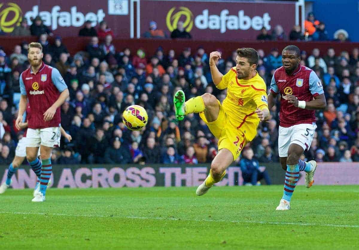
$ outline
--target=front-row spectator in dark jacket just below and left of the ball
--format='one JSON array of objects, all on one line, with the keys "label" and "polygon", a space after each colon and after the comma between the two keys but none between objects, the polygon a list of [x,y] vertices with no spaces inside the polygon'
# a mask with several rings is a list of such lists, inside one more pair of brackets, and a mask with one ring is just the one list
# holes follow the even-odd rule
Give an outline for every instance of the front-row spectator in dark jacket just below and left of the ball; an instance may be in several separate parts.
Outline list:
[{"label": "front-row spectator in dark jacket just below and left of the ball", "polygon": [[131,154],[128,148],[121,145],[120,138],[113,140],[113,146],[105,151],[105,163],[108,164],[127,164],[131,163]]}]

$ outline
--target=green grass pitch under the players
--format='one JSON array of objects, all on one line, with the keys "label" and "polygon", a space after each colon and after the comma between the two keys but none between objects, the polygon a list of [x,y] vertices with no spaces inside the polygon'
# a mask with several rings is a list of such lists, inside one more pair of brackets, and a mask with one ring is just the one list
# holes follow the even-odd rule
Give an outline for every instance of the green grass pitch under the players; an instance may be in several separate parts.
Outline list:
[{"label": "green grass pitch under the players", "polygon": [[359,186],[55,189],[0,196],[0,249],[358,249]]}]

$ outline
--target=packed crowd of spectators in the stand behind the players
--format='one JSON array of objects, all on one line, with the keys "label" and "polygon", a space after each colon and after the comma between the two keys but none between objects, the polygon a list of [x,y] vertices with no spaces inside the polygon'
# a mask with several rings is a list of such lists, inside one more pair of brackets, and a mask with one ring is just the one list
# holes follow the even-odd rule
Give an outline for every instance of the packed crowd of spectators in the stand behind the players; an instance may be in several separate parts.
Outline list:
[{"label": "packed crowd of spectators in the stand behind the players", "polygon": [[[86,29],[85,24],[84,29]],[[40,29],[40,28],[39,28]],[[226,90],[213,85],[209,52],[156,51],[115,48],[106,23],[96,33],[92,27],[80,34],[93,36],[85,51],[70,56],[61,37],[48,42],[46,30],[39,35],[43,61],[59,69],[70,97],[61,107],[61,125],[73,140],[61,139],[53,149],[53,164],[77,163],[186,163],[211,162],[217,154],[217,140],[198,115],[178,122],[174,116],[173,93],[182,89],[186,98],[214,94],[220,101]],[[41,30],[39,31],[41,32]],[[101,40],[101,42],[100,42]],[[9,164],[23,132],[14,126],[20,98],[19,77],[27,62],[26,42],[6,55],[0,48],[0,164]],[[257,71],[269,90],[271,77],[281,66],[281,53],[258,49]],[[321,56],[325,54],[325,56]],[[222,58],[223,74],[235,66],[237,53]],[[312,68],[325,87],[327,108],[317,111],[317,130],[303,158],[317,162],[359,161],[359,49],[335,54],[319,48],[302,51],[300,64]],[[278,97],[280,98],[280,97]],[[130,131],[122,123],[122,112],[129,105],[143,106],[149,116],[141,131]],[[268,122],[260,124],[256,138],[247,145],[260,163],[278,162],[279,101]],[[239,159],[237,159],[239,164]]]}]

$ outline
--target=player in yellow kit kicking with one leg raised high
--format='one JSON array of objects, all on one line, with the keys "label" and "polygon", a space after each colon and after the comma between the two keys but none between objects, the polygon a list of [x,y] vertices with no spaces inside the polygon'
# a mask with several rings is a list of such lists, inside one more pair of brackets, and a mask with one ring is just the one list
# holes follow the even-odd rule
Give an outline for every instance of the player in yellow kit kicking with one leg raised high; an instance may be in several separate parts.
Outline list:
[{"label": "player in yellow kit kicking with one leg raised high", "polygon": [[223,104],[210,93],[185,102],[185,93],[179,90],[173,98],[178,120],[183,120],[187,114],[199,113],[219,139],[219,152],[211,163],[209,175],[197,188],[199,196],[222,180],[225,170],[237,159],[243,146],[255,138],[259,122],[269,117],[266,84],[256,71],[258,52],[243,48],[237,49],[237,54],[236,67],[223,75],[216,66],[221,54],[217,51],[210,53],[212,80],[220,90],[227,88]]}]

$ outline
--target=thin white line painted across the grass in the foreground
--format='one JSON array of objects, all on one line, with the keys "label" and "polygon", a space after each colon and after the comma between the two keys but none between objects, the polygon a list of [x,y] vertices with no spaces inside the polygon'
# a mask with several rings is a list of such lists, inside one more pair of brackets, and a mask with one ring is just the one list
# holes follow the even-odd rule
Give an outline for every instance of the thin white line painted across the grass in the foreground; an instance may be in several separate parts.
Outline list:
[{"label": "thin white line painted across the grass in the foreground", "polygon": [[170,221],[206,221],[206,222],[232,222],[232,223],[250,223],[250,224],[269,224],[269,225],[294,225],[294,226],[324,226],[324,227],[354,227],[359,225],[336,225],[336,224],[316,224],[300,222],[271,222],[271,221],[236,221],[236,220],[209,220],[209,219],[181,219],[181,218],[162,218],[162,217],[136,217],[136,216],[104,216],[104,215],[69,215],[66,213],[27,213],[27,212],[0,212],[15,215],[47,215],[47,216],[74,216],[74,217],[101,217],[101,218],[127,218],[137,220],[170,220]]}]

